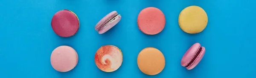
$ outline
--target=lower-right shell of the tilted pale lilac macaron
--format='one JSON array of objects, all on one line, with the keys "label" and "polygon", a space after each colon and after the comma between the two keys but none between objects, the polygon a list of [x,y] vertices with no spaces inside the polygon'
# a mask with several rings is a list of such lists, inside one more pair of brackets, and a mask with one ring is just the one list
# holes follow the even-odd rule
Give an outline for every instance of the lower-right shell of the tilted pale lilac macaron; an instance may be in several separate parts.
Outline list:
[{"label": "lower-right shell of the tilted pale lilac macaron", "polygon": [[105,24],[106,26],[102,27],[102,29],[99,30],[99,34],[103,34],[108,30],[110,30],[112,27],[114,27],[121,20],[122,16],[118,15],[114,18],[115,18],[114,20],[113,19],[110,20],[107,24]]}]

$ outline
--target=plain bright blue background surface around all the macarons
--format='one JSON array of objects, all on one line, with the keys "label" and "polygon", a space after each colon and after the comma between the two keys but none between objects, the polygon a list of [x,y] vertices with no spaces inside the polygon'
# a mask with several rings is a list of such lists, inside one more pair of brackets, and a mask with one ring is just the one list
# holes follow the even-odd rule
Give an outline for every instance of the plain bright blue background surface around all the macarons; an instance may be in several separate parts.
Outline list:
[{"label": "plain bright blue background surface around all the macarons", "polygon": [[[1,0],[0,78],[256,78],[256,0]],[[198,5],[207,12],[208,25],[198,34],[187,34],[178,25],[183,8]],[[159,8],[166,27],[157,35],[145,35],[137,26],[143,8]],[[76,35],[61,38],[51,28],[60,10],[76,13]],[[111,11],[121,21],[100,35],[94,26]],[[192,70],[180,65],[186,50],[201,43],[206,53]],[[58,46],[73,47],[78,65],[60,73],[50,64]],[[96,51],[114,45],[123,52],[122,66],[112,72],[99,70]],[[137,67],[137,55],[146,47],[163,52],[166,66],[158,75],[145,75]]]}]

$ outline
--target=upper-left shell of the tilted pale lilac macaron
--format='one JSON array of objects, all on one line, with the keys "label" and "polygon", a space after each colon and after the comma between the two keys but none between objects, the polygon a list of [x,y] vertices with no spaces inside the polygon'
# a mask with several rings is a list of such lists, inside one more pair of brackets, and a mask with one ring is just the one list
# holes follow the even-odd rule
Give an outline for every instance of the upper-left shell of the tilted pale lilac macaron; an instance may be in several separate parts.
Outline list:
[{"label": "upper-left shell of the tilted pale lilac macaron", "polygon": [[111,13],[108,13],[106,16],[104,16],[95,26],[95,30],[98,29],[106,20],[111,20],[110,17],[117,13],[116,11],[112,11]]}]

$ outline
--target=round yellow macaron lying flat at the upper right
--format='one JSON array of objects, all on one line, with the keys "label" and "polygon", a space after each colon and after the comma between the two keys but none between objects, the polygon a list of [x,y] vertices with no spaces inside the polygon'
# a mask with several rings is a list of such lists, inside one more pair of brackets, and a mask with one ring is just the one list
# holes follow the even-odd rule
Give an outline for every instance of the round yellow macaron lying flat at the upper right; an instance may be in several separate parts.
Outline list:
[{"label": "round yellow macaron lying flat at the upper right", "polygon": [[203,8],[192,5],[180,12],[178,22],[181,30],[189,34],[196,34],[205,29],[208,17]]}]

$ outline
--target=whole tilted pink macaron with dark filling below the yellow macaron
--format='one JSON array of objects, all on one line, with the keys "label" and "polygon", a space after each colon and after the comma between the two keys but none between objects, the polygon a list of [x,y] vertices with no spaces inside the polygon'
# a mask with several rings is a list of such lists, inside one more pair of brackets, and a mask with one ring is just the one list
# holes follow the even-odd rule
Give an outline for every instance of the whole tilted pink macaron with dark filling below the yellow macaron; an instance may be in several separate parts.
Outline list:
[{"label": "whole tilted pink macaron with dark filling below the yellow macaron", "polygon": [[181,59],[181,65],[186,69],[193,69],[201,61],[205,53],[205,48],[200,43],[192,45]]}]

